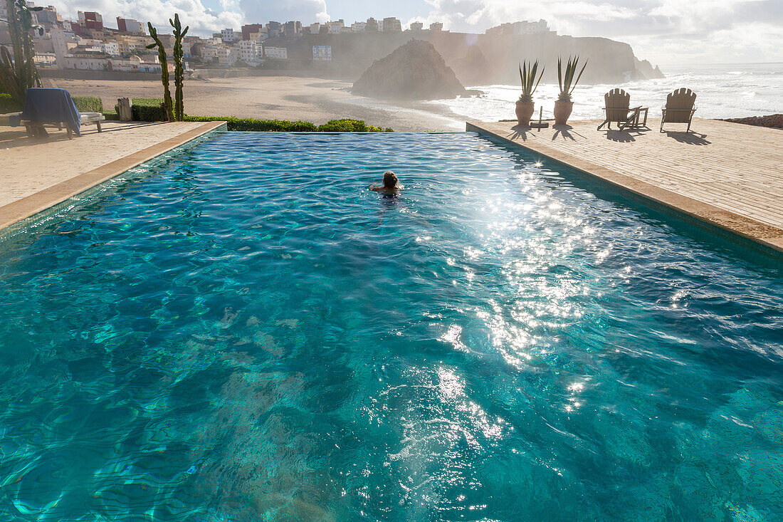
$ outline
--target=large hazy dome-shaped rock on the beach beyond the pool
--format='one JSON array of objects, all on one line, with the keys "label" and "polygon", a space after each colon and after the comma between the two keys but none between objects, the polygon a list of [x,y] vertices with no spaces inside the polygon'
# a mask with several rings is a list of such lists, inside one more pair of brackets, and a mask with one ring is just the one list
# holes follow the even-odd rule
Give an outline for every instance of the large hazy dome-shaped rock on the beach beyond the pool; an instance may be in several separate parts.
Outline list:
[{"label": "large hazy dome-shaped rock on the beach beyond the pool", "polygon": [[396,100],[443,100],[467,93],[435,46],[415,39],[376,60],[352,92]]}]

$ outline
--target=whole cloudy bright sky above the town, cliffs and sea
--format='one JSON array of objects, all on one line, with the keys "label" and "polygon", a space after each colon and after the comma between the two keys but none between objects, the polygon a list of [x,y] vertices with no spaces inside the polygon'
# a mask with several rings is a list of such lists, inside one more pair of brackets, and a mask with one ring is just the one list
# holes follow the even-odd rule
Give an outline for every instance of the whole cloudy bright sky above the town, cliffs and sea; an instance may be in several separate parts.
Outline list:
[{"label": "whole cloudy bright sky above the town, cliffs and sea", "polygon": [[[373,16],[410,22],[440,21],[444,29],[483,33],[504,22],[549,22],[558,34],[602,36],[633,47],[653,64],[783,62],[783,0],[41,0],[75,19],[98,11],[104,24],[116,16],[165,30],[179,13],[191,34],[269,20],[302,24]],[[165,30],[168,32],[168,30]]]}]

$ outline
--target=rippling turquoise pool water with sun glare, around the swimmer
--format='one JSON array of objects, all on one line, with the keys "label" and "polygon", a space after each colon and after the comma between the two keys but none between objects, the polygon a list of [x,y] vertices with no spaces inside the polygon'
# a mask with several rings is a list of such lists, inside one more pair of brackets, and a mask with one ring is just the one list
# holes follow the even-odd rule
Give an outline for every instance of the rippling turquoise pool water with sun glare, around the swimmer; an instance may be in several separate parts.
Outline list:
[{"label": "rippling turquoise pool water with sun glare, around the swimmer", "polygon": [[0,520],[781,520],[781,272],[536,159],[223,133],[6,234]]}]

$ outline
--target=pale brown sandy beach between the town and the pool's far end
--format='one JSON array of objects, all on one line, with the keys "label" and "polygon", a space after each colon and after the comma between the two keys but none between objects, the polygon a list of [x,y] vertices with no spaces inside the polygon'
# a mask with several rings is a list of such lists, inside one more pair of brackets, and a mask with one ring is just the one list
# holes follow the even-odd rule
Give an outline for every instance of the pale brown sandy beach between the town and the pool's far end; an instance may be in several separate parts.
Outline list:
[{"label": "pale brown sandy beach between the town and the pool's far end", "polygon": [[[47,78],[46,82],[68,89],[74,96],[100,96],[107,109],[124,96],[162,97],[161,82],[153,80]],[[212,78],[208,82],[193,79],[186,81],[185,111],[193,116],[304,120],[316,124],[337,118],[355,118],[395,131],[465,129],[465,118],[453,114],[447,107],[415,102],[395,105],[370,100],[353,96],[347,91],[350,86],[350,82],[290,76]]]}]

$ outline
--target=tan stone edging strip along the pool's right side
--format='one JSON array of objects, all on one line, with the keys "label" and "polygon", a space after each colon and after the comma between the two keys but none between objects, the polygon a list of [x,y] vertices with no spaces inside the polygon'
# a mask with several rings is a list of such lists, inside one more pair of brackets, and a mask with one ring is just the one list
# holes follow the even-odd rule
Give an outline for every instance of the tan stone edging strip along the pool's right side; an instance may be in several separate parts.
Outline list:
[{"label": "tan stone edging strip along the pool's right side", "polygon": [[677,194],[677,192],[673,192],[672,190],[667,190],[640,179],[626,176],[625,174],[615,172],[611,169],[602,167],[601,165],[596,165],[590,161],[576,158],[571,154],[566,154],[560,150],[555,150],[539,143],[536,143],[535,145],[519,143],[518,141],[511,140],[507,136],[502,136],[490,129],[486,129],[482,126],[482,122],[480,121],[467,121],[465,123],[465,129],[486,136],[492,136],[493,138],[502,140],[504,143],[509,143],[515,147],[520,147],[521,149],[543,154],[547,158],[558,161],[572,169],[576,169],[586,176],[601,179],[605,183],[626,190],[631,194],[644,198],[644,200],[651,201],[666,208],[671,208],[676,212],[691,216],[692,218],[698,219],[713,227],[727,230],[731,234],[745,237],[745,239],[755,241],[774,251],[783,252],[783,230],[774,227],[774,225],[762,223],[756,219],[749,218],[748,216],[742,216],[726,210],[725,208],[716,207],[715,205],[705,203],[704,201],[698,201],[697,199],[683,194]]}]

